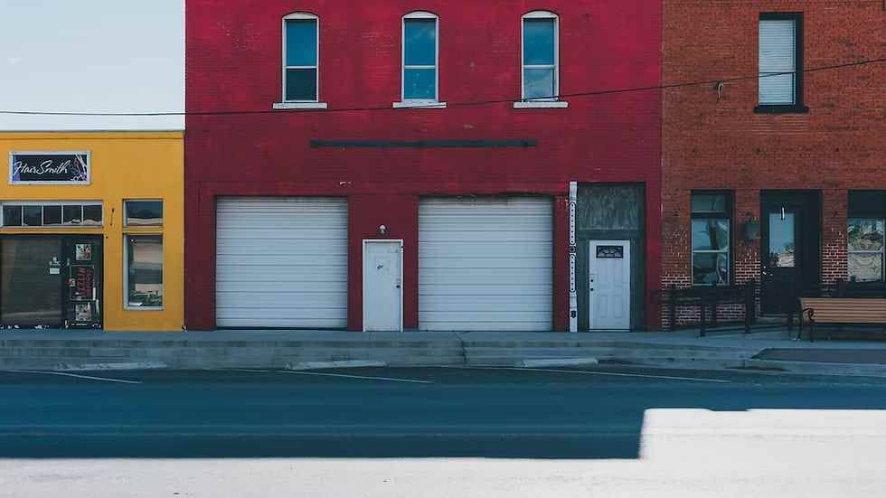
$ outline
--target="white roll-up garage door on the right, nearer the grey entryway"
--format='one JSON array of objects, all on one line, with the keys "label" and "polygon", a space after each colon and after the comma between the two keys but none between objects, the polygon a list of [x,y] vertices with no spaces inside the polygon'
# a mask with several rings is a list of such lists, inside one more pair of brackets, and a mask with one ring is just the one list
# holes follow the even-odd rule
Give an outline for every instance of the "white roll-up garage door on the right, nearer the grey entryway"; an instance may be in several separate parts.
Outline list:
[{"label": "white roll-up garage door on the right, nearer the grey entryway", "polygon": [[419,327],[550,331],[553,204],[534,197],[419,203]]}]

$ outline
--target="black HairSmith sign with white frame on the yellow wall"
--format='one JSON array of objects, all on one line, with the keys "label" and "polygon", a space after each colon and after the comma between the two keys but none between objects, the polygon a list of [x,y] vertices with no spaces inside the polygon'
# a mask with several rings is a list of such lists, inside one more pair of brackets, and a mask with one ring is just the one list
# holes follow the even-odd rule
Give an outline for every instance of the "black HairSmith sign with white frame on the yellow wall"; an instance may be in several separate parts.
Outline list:
[{"label": "black HairSmith sign with white frame on the yellow wall", "polygon": [[86,185],[92,173],[89,152],[12,152],[11,185]]}]

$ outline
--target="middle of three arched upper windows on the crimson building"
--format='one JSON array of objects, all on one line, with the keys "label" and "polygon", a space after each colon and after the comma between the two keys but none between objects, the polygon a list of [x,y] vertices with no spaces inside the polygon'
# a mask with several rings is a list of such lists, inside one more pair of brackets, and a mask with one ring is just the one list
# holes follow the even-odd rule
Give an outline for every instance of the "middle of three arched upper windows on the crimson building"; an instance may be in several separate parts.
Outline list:
[{"label": "middle of three arched upper windows on the crimson building", "polygon": [[403,17],[403,102],[438,101],[438,17],[413,12]]}]

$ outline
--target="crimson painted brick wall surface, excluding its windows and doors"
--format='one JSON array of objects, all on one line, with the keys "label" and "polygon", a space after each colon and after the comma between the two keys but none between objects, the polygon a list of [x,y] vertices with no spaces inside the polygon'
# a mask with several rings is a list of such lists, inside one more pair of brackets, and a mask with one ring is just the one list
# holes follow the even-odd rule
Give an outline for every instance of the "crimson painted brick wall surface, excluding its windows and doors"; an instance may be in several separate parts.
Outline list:
[{"label": "crimson painted brick wall surface, excluding its windows and doors", "polygon": [[[186,323],[214,326],[214,200],[219,195],[349,198],[349,328],[361,329],[359,238],[384,223],[417,250],[420,195],[542,193],[556,200],[554,325],[568,325],[568,183],[646,183],[660,205],[661,94],[570,98],[570,108],[515,110],[521,16],[561,18],[561,93],[656,86],[661,5],[644,0],[187,0],[187,110],[268,111],[280,99],[281,18],[320,17],[320,99],[329,111],[187,117]],[[401,16],[440,17],[440,99],[450,108],[391,109],[399,100]],[[459,102],[506,100],[459,107]],[[343,108],[382,108],[336,112]],[[315,149],[312,139],[514,139],[531,149]],[[648,289],[659,282],[660,212],[647,217]],[[404,323],[418,324],[416,258],[405,261]],[[650,299],[647,316],[655,326]]]}]

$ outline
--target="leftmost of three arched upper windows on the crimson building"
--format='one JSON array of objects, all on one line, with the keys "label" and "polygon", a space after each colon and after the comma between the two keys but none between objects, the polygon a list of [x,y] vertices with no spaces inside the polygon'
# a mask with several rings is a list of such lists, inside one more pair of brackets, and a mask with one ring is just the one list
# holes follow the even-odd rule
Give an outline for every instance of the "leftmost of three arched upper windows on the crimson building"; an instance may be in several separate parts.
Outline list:
[{"label": "leftmost of three arched upper windows on the crimson building", "polygon": [[319,82],[319,19],[314,14],[283,18],[283,100],[316,102]]}]

